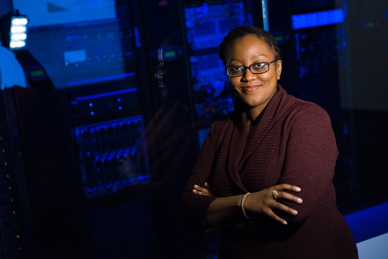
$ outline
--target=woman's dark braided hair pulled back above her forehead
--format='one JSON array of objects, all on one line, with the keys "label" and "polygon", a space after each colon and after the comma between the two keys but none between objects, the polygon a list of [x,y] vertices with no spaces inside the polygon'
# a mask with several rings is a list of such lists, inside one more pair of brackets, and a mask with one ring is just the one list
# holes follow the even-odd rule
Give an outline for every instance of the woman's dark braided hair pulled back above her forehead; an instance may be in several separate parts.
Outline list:
[{"label": "woman's dark braided hair pulled back above her forehead", "polygon": [[229,50],[232,47],[234,40],[242,38],[246,35],[256,35],[260,40],[267,44],[268,48],[274,54],[275,59],[281,59],[280,48],[272,34],[259,27],[239,26],[236,29],[232,29],[228,35],[223,38],[223,41],[220,44],[220,52],[218,53],[218,57],[220,57],[225,66],[227,57],[229,55]]}]

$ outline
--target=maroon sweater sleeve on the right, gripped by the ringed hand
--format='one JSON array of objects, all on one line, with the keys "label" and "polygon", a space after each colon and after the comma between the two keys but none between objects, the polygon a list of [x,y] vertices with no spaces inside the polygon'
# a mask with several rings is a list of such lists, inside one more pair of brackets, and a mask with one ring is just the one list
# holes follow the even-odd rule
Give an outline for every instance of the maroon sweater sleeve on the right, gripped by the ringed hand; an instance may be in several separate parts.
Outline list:
[{"label": "maroon sweater sleeve on the right, gripped by the ringed hand", "polygon": [[[317,207],[335,206],[334,167],[338,156],[336,140],[327,112],[315,104],[296,112],[289,121],[284,164],[278,184],[299,186],[293,193],[302,204],[279,201],[298,211],[297,216],[281,213],[288,223],[300,225]],[[321,204],[322,203],[322,204]]]}]

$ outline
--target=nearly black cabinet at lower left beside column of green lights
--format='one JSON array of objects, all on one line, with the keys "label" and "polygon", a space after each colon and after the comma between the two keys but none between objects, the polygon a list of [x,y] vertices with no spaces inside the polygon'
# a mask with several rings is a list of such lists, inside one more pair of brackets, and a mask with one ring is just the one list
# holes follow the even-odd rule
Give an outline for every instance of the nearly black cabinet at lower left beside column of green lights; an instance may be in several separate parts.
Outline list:
[{"label": "nearly black cabinet at lower left beside column of green lights", "polygon": [[[9,258],[86,256],[76,146],[69,109],[61,106],[66,99],[55,90],[19,86],[2,95],[2,124],[9,133],[6,172],[14,181],[11,198],[18,204],[12,224],[21,232],[20,253]],[[12,249],[7,245],[5,249]]]}]

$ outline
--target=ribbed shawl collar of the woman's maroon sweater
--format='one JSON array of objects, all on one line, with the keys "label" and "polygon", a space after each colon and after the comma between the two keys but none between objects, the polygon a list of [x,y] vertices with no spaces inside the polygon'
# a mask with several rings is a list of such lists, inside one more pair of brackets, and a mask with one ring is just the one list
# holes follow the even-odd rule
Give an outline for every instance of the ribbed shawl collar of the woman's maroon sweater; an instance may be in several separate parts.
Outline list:
[{"label": "ribbed shawl collar of the woman's maroon sweater", "polygon": [[252,151],[260,145],[260,142],[262,142],[264,136],[270,130],[271,125],[281,116],[279,111],[284,105],[286,98],[286,91],[280,85],[277,85],[276,92],[262,112],[246,152],[244,150],[248,138],[248,125],[244,111],[234,117],[234,123],[229,124],[225,132],[225,140],[229,139],[230,142],[229,145],[222,145],[223,147],[221,148],[228,148],[227,164],[230,177],[243,192],[248,191],[241,182],[239,172]]}]

